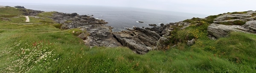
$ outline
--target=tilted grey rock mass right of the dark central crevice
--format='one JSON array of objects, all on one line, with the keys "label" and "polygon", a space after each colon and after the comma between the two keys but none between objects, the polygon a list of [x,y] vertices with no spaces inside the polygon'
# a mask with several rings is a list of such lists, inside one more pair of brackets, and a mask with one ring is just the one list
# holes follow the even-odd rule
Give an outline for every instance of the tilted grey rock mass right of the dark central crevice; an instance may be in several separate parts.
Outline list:
[{"label": "tilted grey rock mass right of the dark central crevice", "polygon": [[164,36],[170,35],[172,26],[188,27],[189,23],[176,22],[152,28],[133,27],[133,29],[127,28],[121,32],[113,32],[113,35],[123,46],[129,47],[137,54],[145,54],[150,50],[167,49],[169,44],[165,42],[169,39]]}]

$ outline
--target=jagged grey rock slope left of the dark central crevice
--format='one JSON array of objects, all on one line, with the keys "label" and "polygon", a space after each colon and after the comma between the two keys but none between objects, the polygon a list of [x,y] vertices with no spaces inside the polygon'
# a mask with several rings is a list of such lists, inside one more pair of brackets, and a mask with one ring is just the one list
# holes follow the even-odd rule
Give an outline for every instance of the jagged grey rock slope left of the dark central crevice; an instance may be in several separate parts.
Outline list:
[{"label": "jagged grey rock slope left of the dark central crevice", "polygon": [[[104,25],[108,23],[104,20],[95,19],[87,15],[79,15],[77,13],[65,14],[61,12],[56,12],[51,18],[55,20],[55,22],[63,24],[62,29],[81,28],[81,30],[86,30],[87,33],[81,33],[78,37],[84,39],[85,44],[88,46],[122,46],[121,43],[113,37],[113,28]],[[87,34],[90,35],[84,37]]]}]

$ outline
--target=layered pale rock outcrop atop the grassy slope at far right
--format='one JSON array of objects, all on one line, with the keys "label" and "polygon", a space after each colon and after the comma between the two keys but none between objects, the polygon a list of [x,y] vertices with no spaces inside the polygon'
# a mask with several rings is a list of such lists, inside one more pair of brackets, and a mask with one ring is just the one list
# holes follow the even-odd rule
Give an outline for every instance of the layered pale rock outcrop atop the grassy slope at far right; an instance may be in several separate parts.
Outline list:
[{"label": "layered pale rock outcrop atop the grassy slope at far right", "polygon": [[230,32],[256,33],[255,11],[247,11],[246,14],[222,14],[214,19],[214,23],[208,26],[209,38],[216,39],[226,37]]}]

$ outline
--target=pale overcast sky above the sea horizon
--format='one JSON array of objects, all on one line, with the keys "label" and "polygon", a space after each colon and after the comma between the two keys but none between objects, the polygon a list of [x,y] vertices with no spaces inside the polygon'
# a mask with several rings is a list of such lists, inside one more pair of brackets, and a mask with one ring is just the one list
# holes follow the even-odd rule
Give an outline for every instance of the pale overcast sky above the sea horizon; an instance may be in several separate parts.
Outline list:
[{"label": "pale overcast sky above the sea horizon", "polygon": [[205,15],[256,10],[256,0],[1,0],[0,4],[6,2],[119,6]]}]

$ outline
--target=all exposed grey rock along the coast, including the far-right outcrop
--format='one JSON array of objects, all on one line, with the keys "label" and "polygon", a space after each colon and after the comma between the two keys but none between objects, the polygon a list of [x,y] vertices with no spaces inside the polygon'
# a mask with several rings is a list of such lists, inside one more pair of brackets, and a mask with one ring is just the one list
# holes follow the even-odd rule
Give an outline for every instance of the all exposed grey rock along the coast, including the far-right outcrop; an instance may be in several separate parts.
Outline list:
[{"label": "all exposed grey rock along the coast, including the far-right outcrop", "polygon": [[[41,12],[43,11],[29,10],[24,15],[35,16]],[[221,14],[208,26],[208,36],[211,39],[218,39],[226,37],[233,31],[256,33],[255,15],[256,11],[247,11],[246,14]],[[87,15],[55,12],[49,18],[62,24],[61,29],[79,28],[82,31],[86,31],[87,33],[80,33],[78,37],[83,39],[87,46],[125,46],[137,54],[146,54],[150,50],[166,49],[169,44],[165,42],[170,40],[168,36],[172,35],[170,32],[175,30],[172,26],[179,27],[178,29],[184,29],[192,24],[184,21],[160,24],[160,26],[149,24],[154,27],[133,27],[126,28],[126,30],[121,32],[112,32],[113,27],[105,25],[108,22]],[[201,19],[198,18],[198,20]],[[87,34],[90,35],[87,36]],[[187,42],[188,45],[194,43],[195,39],[188,40]]]}]

